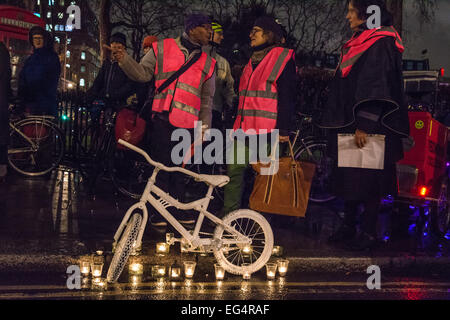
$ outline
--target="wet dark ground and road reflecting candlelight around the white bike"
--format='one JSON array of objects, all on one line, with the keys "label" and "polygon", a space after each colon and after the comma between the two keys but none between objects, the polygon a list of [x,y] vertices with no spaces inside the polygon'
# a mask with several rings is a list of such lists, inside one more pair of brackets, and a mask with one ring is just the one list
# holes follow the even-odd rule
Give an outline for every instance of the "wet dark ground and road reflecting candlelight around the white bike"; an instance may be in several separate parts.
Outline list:
[{"label": "wet dark ground and road reflecting candlelight around the white bike", "polygon": [[[0,186],[0,255],[80,255],[111,250],[112,238],[126,210],[135,201],[118,195],[107,180],[99,184],[95,199],[84,191],[83,179],[70,168],[61,168],[46,179],[24,179],[12,175]],[[273,218],[277,245],[287,257],[367,257],[326,243],[339,225],[329,206],[311,206],[306,219]],[[386,219],[381,215],[380,221]],[[383,227],[381,228],[383,230]],[[144,235],[144,254],[154,255],[157,241],[170,228],[157,230],[150,225]],[[405,237],[388,241],[369,257],[416,256],[448,257],[449,243],[427,249],[427,238]],[[173,255],[179,259],[179,251]],[[65,266],[64,266],[65,267]],[[126,273],[117,285],[99,288],[86,281],[82,290],[67,289],[64,270],[16,273],[0,272],[0,299],[83,299],[83,300],[297,300],[297,299],[449,299],[448,273],[431,269],[410,274],[383,274],[382,289],[368,290],[368,275],[323,270],[305,274],[297,270],[289,276],[268,282],[262,273],[250,282],[229,277],[213,281],[210,262],[200,263],[194,281],[170,282],[143,277],[136,284]],[[444,268],[447,268],[444,266]],[[208,271],[209,270],[209,271]],[[415,272],[416,271],[416,272]],[[428,271],[428,272],[427,272]]]}]

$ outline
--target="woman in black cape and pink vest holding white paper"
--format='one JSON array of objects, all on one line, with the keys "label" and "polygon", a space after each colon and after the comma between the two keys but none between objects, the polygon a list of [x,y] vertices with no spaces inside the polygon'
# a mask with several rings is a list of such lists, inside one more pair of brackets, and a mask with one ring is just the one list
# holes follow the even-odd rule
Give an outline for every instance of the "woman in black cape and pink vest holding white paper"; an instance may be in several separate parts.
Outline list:
[{"label": "woman in black cape and pink vest holding white paper", "polygon": [[[366,13],[372,5],[381,9],[381,26],[375,28]],[[376,244],[381,199],[398,192],[396,162],[403,158],[402,138],[409,136],[403,101],[404,47],[384,1],[350,0],[346,19],[354,35],[342,48],[319,125],[331,129],[334,190],[345,200],[344,224],[330,241],[364,250]],[[345,144],[349,134],[352,146]],[[358,233],[361,204],[364,214]]]}]

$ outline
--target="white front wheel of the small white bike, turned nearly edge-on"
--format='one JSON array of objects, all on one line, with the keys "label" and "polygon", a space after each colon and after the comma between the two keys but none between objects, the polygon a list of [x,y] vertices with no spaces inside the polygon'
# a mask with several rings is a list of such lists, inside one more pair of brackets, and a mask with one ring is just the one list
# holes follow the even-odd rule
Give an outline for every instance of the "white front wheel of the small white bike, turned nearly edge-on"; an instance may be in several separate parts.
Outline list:
[{"label": "white front wheel of the small white bike, turned nearly edge-on", "polygon": [[128,221],[125,231],[122,233],[116,246],[116,251],[106,276],[108,282],[114,283],[119,279],[134,249],[141,224],[142,216],[139,213],[134,213]]}]

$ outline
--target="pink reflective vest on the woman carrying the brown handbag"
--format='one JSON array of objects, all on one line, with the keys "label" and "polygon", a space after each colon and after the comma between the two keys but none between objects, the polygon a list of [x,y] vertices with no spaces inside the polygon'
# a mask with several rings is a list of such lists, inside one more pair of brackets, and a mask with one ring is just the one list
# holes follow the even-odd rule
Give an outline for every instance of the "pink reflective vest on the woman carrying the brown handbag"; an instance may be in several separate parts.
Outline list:
[{"label": "pink reflective vest on the woman carrying the brown handbag", "polygon": [[276,81],[293,57],[293,50],[274,48],[255,70],[249,61],[241,77],[235,130],[255,130],[258,133],[275,129],[278,118]]}]

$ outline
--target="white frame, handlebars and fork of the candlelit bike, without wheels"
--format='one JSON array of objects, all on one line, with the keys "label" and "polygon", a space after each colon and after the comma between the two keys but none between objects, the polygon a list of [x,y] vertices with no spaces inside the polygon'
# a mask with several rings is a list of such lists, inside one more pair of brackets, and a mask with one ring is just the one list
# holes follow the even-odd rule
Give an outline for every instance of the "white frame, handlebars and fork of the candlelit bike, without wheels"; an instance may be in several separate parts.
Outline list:
[{"label": "white frame, handlebars and fork of the candlelit bike, without wheels", "polygon": [[[189,176],[195,178],[197,181],[204,181],[200,175],[198,175],[194,172],[185,170],[185,169],[181,169],[181,168],[166,168],[162,164],[156,163],[153,160],[151,160],[150,157],[148,156],[148,154],[146,154],[143,150],[141,150],[129,143],[126,143],[122,140],[119,140],[119,143],[121,143],[122,145],[126,146],[127,148],[143,155],[150,164],[155,166],[155,169],[153,171],[151,178],[149,179],[149,181],[147,183],[147,186],[145,188],[145,191],[142,195],[140,202],[135,204],[134,206],[132,206],[127,211],[122,223],[119,226],[119,229],[117,230],[117,232],[114,236],[115,243],[119,240],[123,230],[125,229],[125,227],[128,223],[128,220],[131,217],[131,214],[134,212],[134,210],[140,209],[143,212],[143,223],[141,225],[141,228],[140,228],[140,231],[139,231],[139,234],[138,234],[138,237],[137,237],[134,247],[140,248],[142,246],[142,238],[143,238],[145,227],[146,227],[147,221],[148,221],[148,211],[146,208],[146,204],[149,203],[182,235],[182,237],[184,239],[186,239],[189,242],[189,244],[191,245],[191,249],[195,250],[199,247],[211,246],[212,244],[214,244],[214,239],[212,239],[212,238],[207,238],[207,239],[200,238],[200,230],[203,225],[203,221],[204,221],[205,217],[210,219],[217,225],[222,226],[227,232],[229,232],[230,234],[233,234],[237,237],[237,239],[235,239],[235,240],[223,240],[220,243],[220,245],[222,245],[222,244],[225,244],[225,245],[226,244],[242,244],[242,245],[251,244],[250,239],[248,239],[246,236],[242,235],[240,232],[236,231],[234,228],[226,225],[223,222],[223,220],[217,218],[215,215],[213,215],[212,213],[207,211],[209,203],[213,199],[212,193],[214,191],[215,186],[209,185],[208,192],[203,199],[200,199],[200,200],[197,200],[197,201],[194,201],[191,203],[187,203],[187,204],[181,203],[155,185],[156,177],[157,177],[159,171],[163,170],[163,171],[167,171],[167,172],[181,172],[181,173],[184,173],[186,175],[189,175]],[[159,197],[159,199],[156,199],[152,195],[152,193],[156,194]],[[167,208],[171,207],[171,206],[173,206],[179,210],[182,210],[182,211],[195,210],[195,211],[199,212],[199,218],[197,220],[194,232],[192,234],[186,228],[184,228],[183,225],[181,225],[173,217],[173,215],[170,214],[169,211],[167,211]],[[175,240],[175,241],[180,242],[181,240]]]}]

